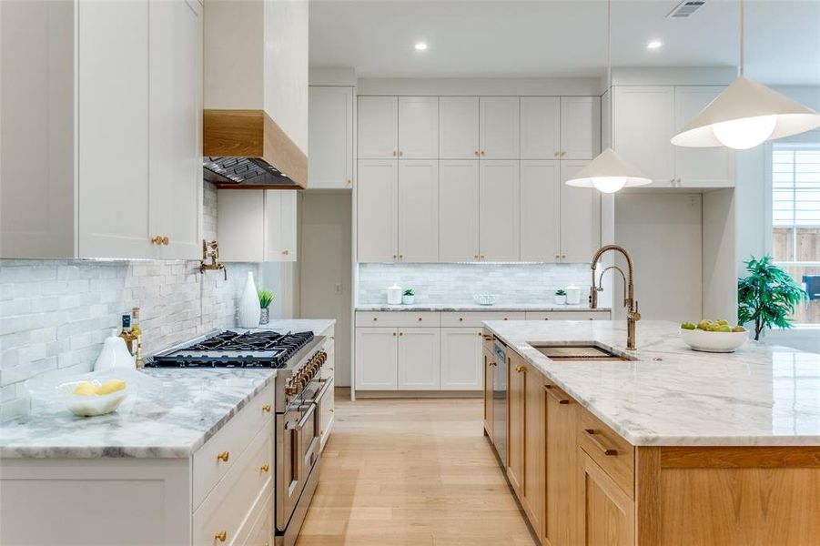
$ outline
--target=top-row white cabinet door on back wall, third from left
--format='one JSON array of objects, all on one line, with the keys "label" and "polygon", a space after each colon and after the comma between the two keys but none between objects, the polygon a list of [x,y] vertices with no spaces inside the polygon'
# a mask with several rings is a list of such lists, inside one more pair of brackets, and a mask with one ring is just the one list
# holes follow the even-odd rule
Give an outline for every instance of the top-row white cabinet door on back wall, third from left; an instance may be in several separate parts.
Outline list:
[{"label": "top-row white cabinet door on back wall, third from left", "polygon": [[479,157],[480,129],[478,96],[439,97],[439,157]]}]

